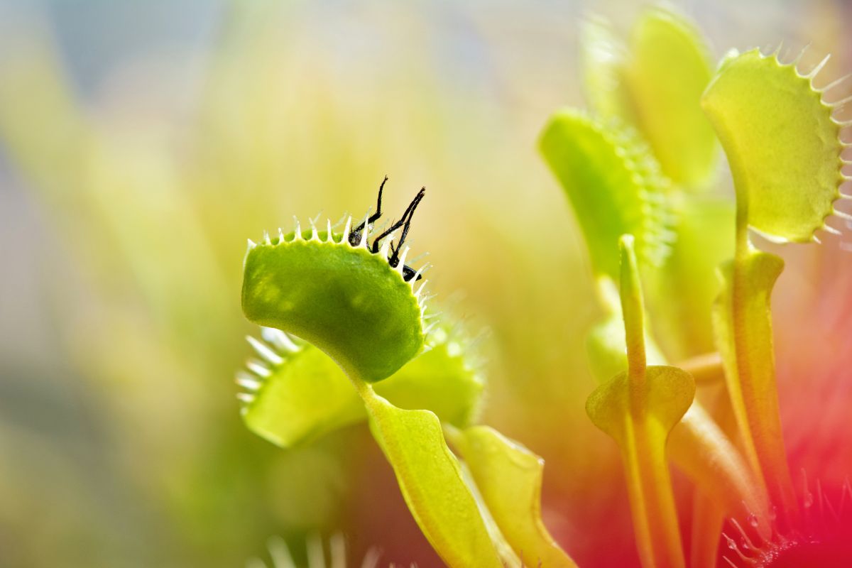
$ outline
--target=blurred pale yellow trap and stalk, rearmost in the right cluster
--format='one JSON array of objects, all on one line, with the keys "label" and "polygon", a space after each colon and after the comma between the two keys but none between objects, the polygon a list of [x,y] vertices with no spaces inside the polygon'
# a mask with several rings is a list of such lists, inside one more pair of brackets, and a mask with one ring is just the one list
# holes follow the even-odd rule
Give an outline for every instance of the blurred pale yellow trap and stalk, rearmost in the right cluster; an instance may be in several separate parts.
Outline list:
[{"label": "blurred pale yellow trap and stalk, rearmost in the right cluster", "polygon": [[[710,50],[693,22],[664,8],[640,15],[629,44],[600,17],[582,24],[581,40],[592,112],[603,123],[614,119],[636,129],[633,138],[653,150],[665,178],[661,185],[668,187],[659,198],[665,199],[668,215],[667,241],[676,246],[668,247],[661,270],[646,274],[653,279],[648,283],[653,291],[649,307],[659,315],[653,330],[673,359],[712,351],[705,307],[716,296],[717,264],[733,245],[727,232],[714,229],[730,224],[733,230],[734,209],[728,200],[705,191],[715,181],[718,142],[696,101],[712,76]],[[644,237],[625,232],[636,236],[637,252],[644,257]],[[680,293],[684,288],[693,293]]]}]

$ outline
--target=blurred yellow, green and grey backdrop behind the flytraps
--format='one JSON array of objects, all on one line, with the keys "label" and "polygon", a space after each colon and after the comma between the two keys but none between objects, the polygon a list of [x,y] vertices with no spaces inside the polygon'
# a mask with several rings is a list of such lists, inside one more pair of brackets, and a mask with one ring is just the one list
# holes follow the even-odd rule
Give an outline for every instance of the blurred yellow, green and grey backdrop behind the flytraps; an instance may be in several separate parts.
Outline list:
[{"label": "blurred yellow, green and grey backdrop behind the flytraps", "polygon": [[[852,68],[842,0],[676,5],[716,58],[783,39]],[[640,8],[0,0],[0,565],[235,566],[337,532],[440,565],[365,427],[285,452],[234,398],[245,239],[361,215],[385,174],[389,211],[428,188],[412,250],[491,330],[484,421],[546,459],[551,531],[584,566],[633,554],[583,410],[588,260],[536,139],[584,105],[580,20]]]}]

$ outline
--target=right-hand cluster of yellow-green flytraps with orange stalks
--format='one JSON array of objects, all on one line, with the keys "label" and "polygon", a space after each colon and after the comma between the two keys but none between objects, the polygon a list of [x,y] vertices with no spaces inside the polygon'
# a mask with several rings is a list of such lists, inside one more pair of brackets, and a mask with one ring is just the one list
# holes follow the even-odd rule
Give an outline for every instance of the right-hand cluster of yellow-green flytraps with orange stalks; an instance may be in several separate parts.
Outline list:
[{"label": "right-hand cluster of yellow-green flytraps with orange stalks", "polygon": [[[596,273],[605,315],[588,337],[592,370],[600,380],[625,367],[626,376],[639,377],[635,369],[643,367],[646,356],[642,352],[640,359],[636,353],[646,347],[650,362],[675,357],[678,367],[694,371],[702,384],[727,385],[713,412],[694,403],[676,425],[674,415],[658,418],[647,456],[641,451],[632,455],[638,442],[631,437],[648,433],[639,421],[653,416],[657,404],[675,404],[679,387],[663,387],[663,401],[652,404],[637,396],[642,393],[638,387],[607,382],[589,399],[593,422],[619,441],[625,458],[642,565],[684,562],[668,480],[660,474],[653,483],[643,481],[665,468],[662,460],[651,460],[668,427],[666,451],[699,490],[689,565],[774,565],[783,556],[780,551],[820,540],[813,536],[807,511],[804,516],[798,511],[780,430],[769,298],[783,262],[755,250],[749,229],[775,241],[806,242],[816,240],[820,229],[835,232],[826,217],[849,218],[834,204],[845,197],[839,186],[849,179],[841,171],[847,145],[840,131],[850,123],[832,116],[848,100],[826,103],[825,91],[838,82],[815,87],[825,60],[803,73],[797,61],[780,63],[777,54],[733,52],[713,76],[694,27],[665,10],[642,16],[629,47],[602,20],[585,26],[584,41],[590,43],[584,49],[584,80],[596,115],[557,113],[540,144],[577,214]],[[701,116],[702,106],[709,122]],[[590,144],[590,123],[594,131],[608,132],[597,136],[606,144]],[[616,135],[630,125],[640,134]],[[714,130],[734,177],[735,208],[704,193],[713,177]],[[648,168],[636,166],[641,163],[636,148],[618,147],[642,138],[653,149],[651,159],[659,161],[662,183],[648,184]],[[649,186],[660,191],[649,193]],[[660,223],[664,226],[647,232]],[[636,235],[642,268],[622,264],[633,268],[632,278],[622,279],[620,310],[612,285],[613,235],[619,231]],[[666,236],[665,254],[648,255],[654,250],[648,242],[659,242],[659,235]],[[625,245],[622,253],[627,251],[630,261]],[[732,250],[734,259],[722,265],[719,292],[708,284],[710,273]],[[651,283],[649,316],[658,322],[649,330],[637,324],[645,315],[636,301],[639,273]],[[621,318],[626,343],[619,335]],[[719,353],[712,353],[714,348]],[[624,375],[619,377],[623,382]],[[649,503],[657,505],[657,513],[648,513]],[[803,508],[809,506],[805,497]],[[780,510],[777,522],[770,508]],[[725,535],[734,553],[720,560],[717,548],[726,518],[741,539]],[[828,525],[826,538],[837,539],[832,532],[837,529]],[[823,553],[814,558],[817,554]],[[806,553],[804,558],[811,557]]]}]

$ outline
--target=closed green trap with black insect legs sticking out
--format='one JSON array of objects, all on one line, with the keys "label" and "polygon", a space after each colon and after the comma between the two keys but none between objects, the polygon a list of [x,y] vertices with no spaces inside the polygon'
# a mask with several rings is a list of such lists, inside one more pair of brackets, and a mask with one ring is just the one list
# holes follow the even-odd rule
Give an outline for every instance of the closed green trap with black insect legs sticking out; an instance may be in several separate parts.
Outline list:
[{"label": "closed green trap with black insect legs sticking out", "polygon": [[336,235],[313,226],[302,232],[296,223],[289,234],[249,241],[243,311],[319,347],[350,378],[377,382],[423,347],[425,295],[416,278],[403,278],[404,262],[390,266],[391,238],[374,255],[366,247],[369,228],[353,246],[352,227],[349,218]]}]

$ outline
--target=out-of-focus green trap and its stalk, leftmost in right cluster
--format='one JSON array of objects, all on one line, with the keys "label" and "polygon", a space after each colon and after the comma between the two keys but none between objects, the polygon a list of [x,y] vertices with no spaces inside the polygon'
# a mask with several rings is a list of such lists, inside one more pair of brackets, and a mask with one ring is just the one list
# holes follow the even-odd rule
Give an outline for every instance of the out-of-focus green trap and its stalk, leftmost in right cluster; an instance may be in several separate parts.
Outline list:
[{"label": "out-of-focus green trap and its stalk, leftmost in right cluster", "polygon": [[[619,275],[619,237],[635,234],[637,255],[659,270],[665,270],[668,255],[678,246],[667,226],[673,222],[667,205],[673,184],[660,171],[648,146],[630,130],[624,123],[604,123],[587,113],[567,110],[551,118],[540,141],[545,160],[577,213],[597,274],[599,301],[606,315],[590,330],[588,346],[590,362],[601,382],[627,368],[623,316],[607,284]],[[709,308],[708,301],[708,312]],[[709,317],[705,320],[709,327]],[[650,337],[647,345],[651,362],[665,364],[665,355]],[[768,536],[762,488],[701,404],[690,407],[671,439],[672,461],[700,491],[724,502],[728,511],[755,515],[762,521],[760,531]]]}]

